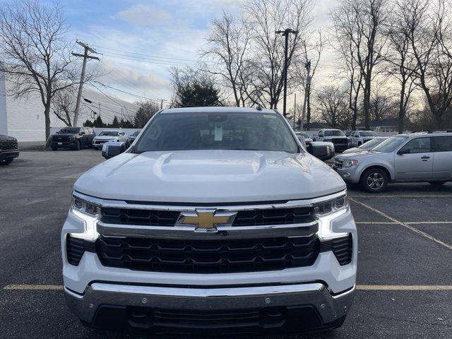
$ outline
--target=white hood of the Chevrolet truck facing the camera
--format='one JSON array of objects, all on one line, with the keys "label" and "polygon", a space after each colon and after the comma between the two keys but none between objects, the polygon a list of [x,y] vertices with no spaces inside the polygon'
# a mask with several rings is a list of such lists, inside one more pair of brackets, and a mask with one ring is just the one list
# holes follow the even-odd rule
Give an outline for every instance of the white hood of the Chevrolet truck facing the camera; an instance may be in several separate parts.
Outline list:
[{"label": "white hood of the Chevrolet truck facing the camera", "polygon": [[234,203],[316,198],[345,183],[308,153],[185,150],[123,153],[83,174],[74,189],[107,199]]}]

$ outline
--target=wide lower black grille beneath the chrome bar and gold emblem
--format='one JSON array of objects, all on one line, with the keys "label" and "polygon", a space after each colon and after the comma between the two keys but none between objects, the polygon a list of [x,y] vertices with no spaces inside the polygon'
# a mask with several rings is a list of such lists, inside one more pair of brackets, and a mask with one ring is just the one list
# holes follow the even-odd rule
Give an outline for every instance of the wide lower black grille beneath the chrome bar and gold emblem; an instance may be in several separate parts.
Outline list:
[{"label": "wide lower black grille beneath the chrome bar and gold emblem", "polygon": [[232,273],[311,266],[319,255],[315,232],[263,239],[148,239],[100,237],[104,266],[155,272]]}]

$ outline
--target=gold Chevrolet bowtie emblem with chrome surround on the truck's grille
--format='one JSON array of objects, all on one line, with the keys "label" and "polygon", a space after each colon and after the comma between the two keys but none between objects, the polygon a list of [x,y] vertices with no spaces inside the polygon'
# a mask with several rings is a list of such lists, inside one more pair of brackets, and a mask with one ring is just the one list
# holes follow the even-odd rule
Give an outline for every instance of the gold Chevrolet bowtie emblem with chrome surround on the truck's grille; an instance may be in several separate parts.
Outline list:
[{"label": "gold Chevrolet bowtie emblem with chrome surround on the truck's grille", "polygon": [[217,226],[230,226],[234,222],[236,212],[217,212],[216,210],[196,210],[181,212],[177,226],[195,226],[198,232],[216,232]]}]

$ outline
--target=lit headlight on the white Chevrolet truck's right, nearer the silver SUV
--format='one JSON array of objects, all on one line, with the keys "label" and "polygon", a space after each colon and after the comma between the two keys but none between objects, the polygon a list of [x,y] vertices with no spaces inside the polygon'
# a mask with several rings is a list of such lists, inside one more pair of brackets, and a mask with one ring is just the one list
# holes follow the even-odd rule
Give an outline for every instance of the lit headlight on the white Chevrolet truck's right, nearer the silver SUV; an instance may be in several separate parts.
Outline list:
[{"label": "lit headlight on the white Chevrolet truck's right, nearer the silver SUV", "polygon": [[314,205],[314,217],[319,222],[319,237],[321,239],[347,236],[347,232],[333,232],[331,230],[331,221],[346,213],[347,208],[347,194]]}]

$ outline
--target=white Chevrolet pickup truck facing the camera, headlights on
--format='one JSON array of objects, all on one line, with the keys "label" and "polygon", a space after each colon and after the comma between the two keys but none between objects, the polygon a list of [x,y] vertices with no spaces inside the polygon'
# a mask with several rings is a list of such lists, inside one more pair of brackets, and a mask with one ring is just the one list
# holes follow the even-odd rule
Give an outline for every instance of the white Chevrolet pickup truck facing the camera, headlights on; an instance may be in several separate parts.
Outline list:
[{"label": "white Chevrolet pickup truck facing the camera, headlights on", "polygon": [[77,180],[61,247],[67,303],[95,328],[325,330],[355,290],[345,183],[261,107],[157,112]]}]

